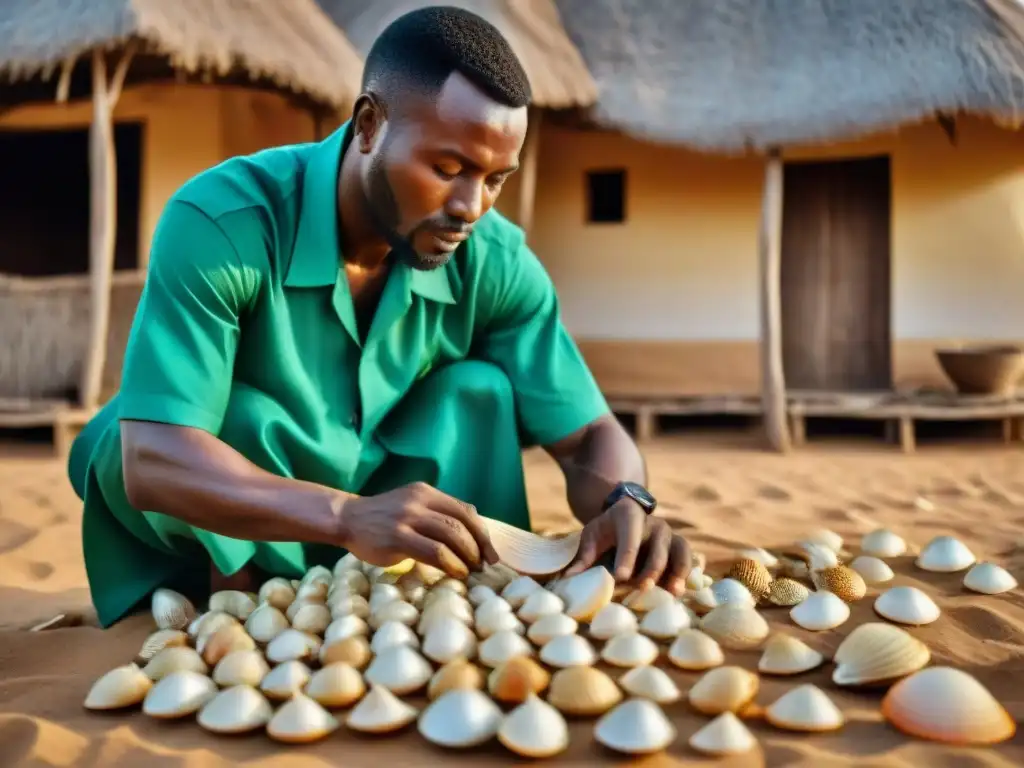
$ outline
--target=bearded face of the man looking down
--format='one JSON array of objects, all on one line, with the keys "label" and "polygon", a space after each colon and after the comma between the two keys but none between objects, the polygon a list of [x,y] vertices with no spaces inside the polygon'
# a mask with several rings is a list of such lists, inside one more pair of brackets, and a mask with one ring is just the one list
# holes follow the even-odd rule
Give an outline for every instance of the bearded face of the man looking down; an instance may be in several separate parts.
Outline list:
[{"label": "bearded face of the man looking down", "polygon": [[519,163],[526,109],[453,74],[437,97],[413,96],[377,131],[364,161],[374,223],[418,269],[443,266]]}]

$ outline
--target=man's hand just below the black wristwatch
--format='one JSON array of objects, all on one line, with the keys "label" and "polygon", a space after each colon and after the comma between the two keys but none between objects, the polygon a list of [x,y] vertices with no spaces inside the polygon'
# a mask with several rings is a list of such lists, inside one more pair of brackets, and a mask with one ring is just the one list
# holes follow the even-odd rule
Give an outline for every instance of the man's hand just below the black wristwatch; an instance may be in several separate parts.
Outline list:
[{"label": "man's hand just below the black wristwatch", "polygon": [[[681,595],[686,589],[690,571],[690,547],[686,540],[674,535],[669,523],[651,517],[629,498],[621,499],[584,526],[580,551],[565,575],[591,567],[612,547],[615,549],[612,575],[616,582],[632,582],[640,588],[660,583],[674,595]],[[643,558],[641,550],[645,550]]]}]

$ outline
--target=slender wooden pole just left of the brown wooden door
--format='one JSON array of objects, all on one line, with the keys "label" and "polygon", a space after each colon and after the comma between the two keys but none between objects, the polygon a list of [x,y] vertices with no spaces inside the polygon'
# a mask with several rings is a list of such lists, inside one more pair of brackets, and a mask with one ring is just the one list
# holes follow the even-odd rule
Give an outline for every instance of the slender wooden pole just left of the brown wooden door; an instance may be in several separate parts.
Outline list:
[{"label": "slender wooden pole just left of the brown wooden door", "polygon": [[782,155],[768,151],[761,201],[759,260],[761,266],[761,396],[768,444],[780,453],[792,440],[786,421],[785,374],[782,368]]}]

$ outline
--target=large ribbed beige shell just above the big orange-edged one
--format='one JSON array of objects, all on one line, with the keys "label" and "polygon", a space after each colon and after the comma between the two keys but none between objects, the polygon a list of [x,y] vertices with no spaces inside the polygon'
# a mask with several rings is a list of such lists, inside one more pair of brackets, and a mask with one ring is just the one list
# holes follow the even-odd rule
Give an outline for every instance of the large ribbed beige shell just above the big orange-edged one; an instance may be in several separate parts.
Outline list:
[{"label": "large ribbed beige shell just above the big orange-edged one", "polygon": [[931,660],[931,652],[905,630],[869,622],[846,636],[833,660],[836,685],[884,686],[923,669]]}]

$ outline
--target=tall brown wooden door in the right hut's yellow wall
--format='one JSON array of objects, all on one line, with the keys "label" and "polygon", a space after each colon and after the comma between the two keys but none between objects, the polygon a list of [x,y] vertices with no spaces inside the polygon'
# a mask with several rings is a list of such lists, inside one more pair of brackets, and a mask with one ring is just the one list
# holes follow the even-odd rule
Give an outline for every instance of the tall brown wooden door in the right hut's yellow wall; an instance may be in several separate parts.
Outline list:
[{"label": "tall brown wooden door in the right hut's yellow wall", "polygon": [[787,163],[784,185],[786,387],[891,388],[889,158]]}]

